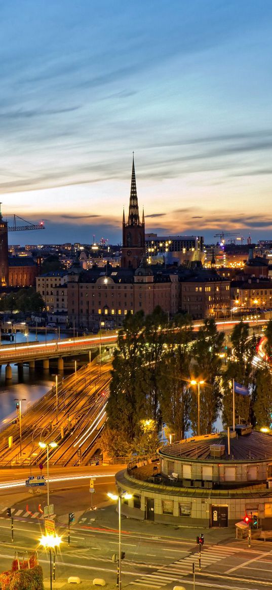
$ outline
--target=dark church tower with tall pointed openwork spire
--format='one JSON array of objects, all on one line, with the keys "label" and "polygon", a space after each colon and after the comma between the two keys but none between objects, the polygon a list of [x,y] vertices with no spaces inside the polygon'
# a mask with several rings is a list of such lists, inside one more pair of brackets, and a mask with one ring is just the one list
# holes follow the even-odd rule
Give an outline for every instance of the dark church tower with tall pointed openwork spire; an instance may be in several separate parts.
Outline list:
[{"label": "dark church tower with tall pointed openwork spire", "polygon": [[123,247],[121,267],[137,268],[140,266],[140,261],[142,260],[143,256],[145,256],[145,217],[143,214],[142,223],[140,223],[133,152],[129,217],[127,219],[127,223],[125,221],[123,211]]}]

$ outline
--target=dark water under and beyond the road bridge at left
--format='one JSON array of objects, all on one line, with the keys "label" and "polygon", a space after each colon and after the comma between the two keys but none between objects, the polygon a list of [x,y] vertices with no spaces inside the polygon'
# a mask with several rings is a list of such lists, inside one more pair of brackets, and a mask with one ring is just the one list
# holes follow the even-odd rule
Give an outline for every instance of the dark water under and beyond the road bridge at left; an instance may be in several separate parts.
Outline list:
[{"label": "dark water under and beyond the road bridge at left", "polygon": [[[55,333],[38,334],[38,342],[45,342],[45,337],[48,340],[54,340],[58,336]],[[66,334],[61,334],[61,338],[67,337]],[[27,336],[17,332],[16,342],[34,342],[36,340],[35,333],[29,333]],[[14,345],[9,340],[2,340],[2,346]],[[1,349],[0,349],[1,350]],[[37,367],[31,370],[28,366],[22,367],[18,371],[17,365],[11,365],[12,381],[6,382],[5,379],[5,365],[0,368],[0,428],[6,424],[10,419],[17,416],[15,399],[24,399],[22,401],[22,414],[30,407],[37,399],[40,399],[51,389],[54,377],[54,369],[44,372],[42,367]],[[71,369],[65,369],[65,375],[71,373]]]}]

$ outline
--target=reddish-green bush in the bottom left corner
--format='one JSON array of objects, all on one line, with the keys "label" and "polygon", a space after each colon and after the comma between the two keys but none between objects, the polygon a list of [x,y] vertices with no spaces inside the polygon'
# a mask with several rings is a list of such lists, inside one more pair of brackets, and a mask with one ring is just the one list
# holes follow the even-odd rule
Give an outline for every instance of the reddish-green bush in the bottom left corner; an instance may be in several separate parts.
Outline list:
[{"label": "reddish-green bush in the bottom left corner", "polygon": [[36,565],[31,569],[0,574],[1,590],[44,590],[42,568]]}]

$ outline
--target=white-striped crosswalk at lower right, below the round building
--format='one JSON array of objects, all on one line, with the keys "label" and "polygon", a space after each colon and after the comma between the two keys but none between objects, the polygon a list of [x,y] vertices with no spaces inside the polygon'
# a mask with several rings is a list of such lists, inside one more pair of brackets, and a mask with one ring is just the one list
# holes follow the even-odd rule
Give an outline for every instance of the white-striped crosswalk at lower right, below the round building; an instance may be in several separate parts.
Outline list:
[{"label": "white-striped crosswalk at lower right, below the round building", "polygon": [[[221,545],[210,545],[201,551],[201,569],[217,563],[221,559],[229,558],[235,553],[230,547]],[[144,586],[145,588],[162,588],[171,582],[179,582],[181,579],[192,573],[192,564],[195,563],[195,571],[198,571],[198,553],[191,553],[183,559],[165,565],[153,573],[146,573],[129,586]]]}]

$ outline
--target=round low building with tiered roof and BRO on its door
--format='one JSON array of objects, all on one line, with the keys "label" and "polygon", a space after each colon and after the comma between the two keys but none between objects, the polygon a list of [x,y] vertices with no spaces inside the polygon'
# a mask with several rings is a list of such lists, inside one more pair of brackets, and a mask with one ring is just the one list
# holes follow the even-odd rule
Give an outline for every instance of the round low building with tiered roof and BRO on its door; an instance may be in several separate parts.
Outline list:
[{"label": "round low building with tiered roof and BRO on its door", "polygon": [[[272,437],[251,427],[182,440],[116,474],[132,494],[122,514],[171,525],[225,527],[272,518]],[[270,487],[271,486],[271,487]]]}]

